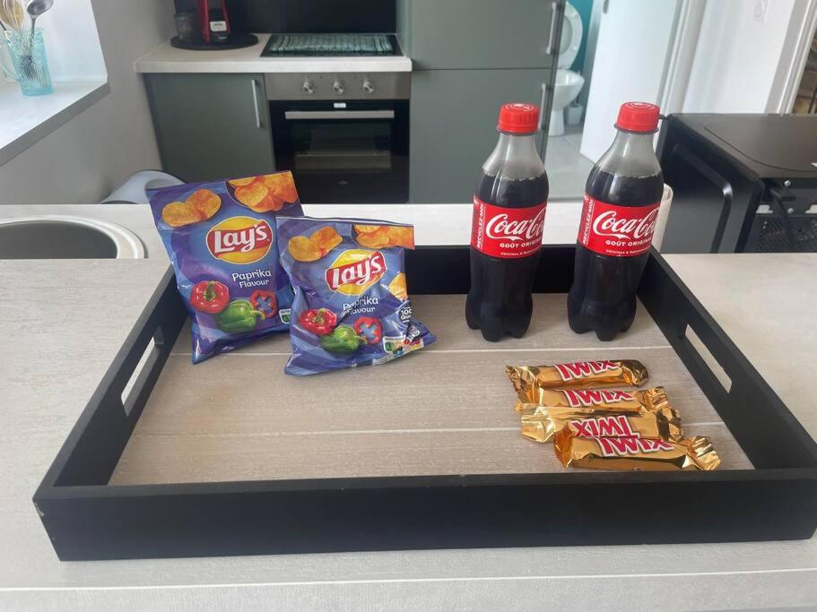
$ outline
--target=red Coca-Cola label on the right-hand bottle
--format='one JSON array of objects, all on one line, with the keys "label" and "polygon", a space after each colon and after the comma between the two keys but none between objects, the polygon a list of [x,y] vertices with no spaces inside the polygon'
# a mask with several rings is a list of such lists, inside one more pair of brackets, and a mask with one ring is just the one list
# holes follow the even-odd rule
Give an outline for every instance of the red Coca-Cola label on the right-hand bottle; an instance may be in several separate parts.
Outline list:
[{"label": "red Coca-Cola label on the right-hand bottle", "polygon": [[615,257],[645,254],[653,241],[660,204],[619,206],[585,194],[578,243],[595,253]]}]

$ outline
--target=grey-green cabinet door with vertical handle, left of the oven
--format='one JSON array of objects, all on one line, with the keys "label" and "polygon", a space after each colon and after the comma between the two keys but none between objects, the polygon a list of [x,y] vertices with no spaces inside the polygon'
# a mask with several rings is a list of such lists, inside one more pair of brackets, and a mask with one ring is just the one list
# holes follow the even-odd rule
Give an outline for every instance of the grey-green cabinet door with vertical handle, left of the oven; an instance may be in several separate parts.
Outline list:
[{"label": "grey-green cabinet door with vertical handle, left of the oven", "polygon": [[261,74],[145,74],[162,168],[187,182],[275,169]]}]

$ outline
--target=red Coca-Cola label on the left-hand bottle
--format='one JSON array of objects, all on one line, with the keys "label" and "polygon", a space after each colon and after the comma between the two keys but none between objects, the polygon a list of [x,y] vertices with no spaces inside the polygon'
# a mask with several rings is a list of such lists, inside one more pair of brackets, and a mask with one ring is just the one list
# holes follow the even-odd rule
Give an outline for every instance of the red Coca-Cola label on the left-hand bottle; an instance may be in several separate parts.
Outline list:
[{"label": "red Coca-Cola label on the left-hand bottle", "polygon": [[527,208],[502,208],[474,196],[471,246],[491,257],[527,257],[542,248],[547,203]]}]

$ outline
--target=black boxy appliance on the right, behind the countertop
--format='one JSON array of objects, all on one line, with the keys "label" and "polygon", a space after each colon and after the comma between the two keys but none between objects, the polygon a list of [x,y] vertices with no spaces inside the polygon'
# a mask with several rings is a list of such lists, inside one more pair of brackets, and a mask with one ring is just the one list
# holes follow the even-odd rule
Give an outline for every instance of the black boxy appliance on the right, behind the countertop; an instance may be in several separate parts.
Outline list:
[{"label": "black boxy appliance on the right, behind the countertop", "polygon": [[671,115],[658,159],[663,253],[817,251],[817,116]]}]

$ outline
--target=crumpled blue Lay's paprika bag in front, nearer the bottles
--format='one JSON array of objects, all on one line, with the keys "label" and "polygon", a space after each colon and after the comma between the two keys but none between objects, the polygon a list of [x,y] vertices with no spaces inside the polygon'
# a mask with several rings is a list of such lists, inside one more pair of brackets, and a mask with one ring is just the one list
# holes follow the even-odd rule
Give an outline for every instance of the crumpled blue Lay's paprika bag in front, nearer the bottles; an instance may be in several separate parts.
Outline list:
[{"label": "crumpled blue Lay's paprika bag in front, nearer the bottles", "polygon": [[276,223],[295,289],[287,374],[382,364],[435,340],[413,319],[406,290],[403,251],[414,247],[412,226],[309,217]]}]

